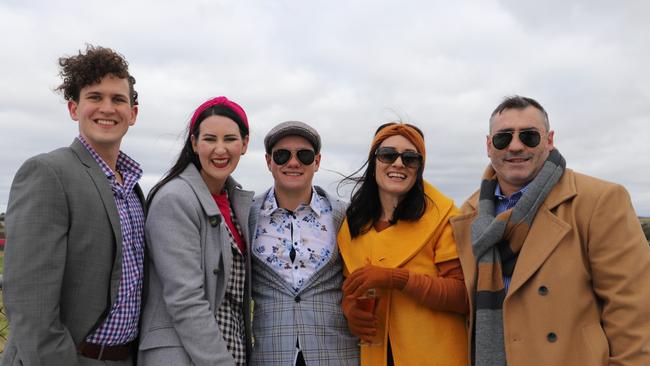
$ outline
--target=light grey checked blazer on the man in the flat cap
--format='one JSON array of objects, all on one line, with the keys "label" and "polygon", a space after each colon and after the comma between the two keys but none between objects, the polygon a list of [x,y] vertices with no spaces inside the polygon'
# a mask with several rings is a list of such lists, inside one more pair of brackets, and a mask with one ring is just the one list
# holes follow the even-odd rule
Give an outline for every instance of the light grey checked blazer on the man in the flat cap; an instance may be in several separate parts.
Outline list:
[{"label": "light grey checked blazer on the man in the flat cap", "polygon": [[[318,186],[315,189],[331,203],[338,232],[345,203]],[[267,194],[253,201],[251,242]],[[359,340],[350,334],[341,310],[343,267],[338,250],[298,292],[264,261],[252,257],[255,346],[250,365],[293,365],[296,339],[307,365],[358,365]]]}]

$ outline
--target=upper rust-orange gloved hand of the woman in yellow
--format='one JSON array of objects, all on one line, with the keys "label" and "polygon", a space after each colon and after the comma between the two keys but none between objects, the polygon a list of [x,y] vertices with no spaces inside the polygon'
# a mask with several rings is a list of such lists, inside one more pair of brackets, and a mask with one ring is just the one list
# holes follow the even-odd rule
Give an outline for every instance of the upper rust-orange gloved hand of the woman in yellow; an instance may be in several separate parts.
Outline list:
[{"label": "upper rust-orange gloved hand of the woman in yellow", "polygon": [[408,271],[402,268],[383,268],[367,264],[350,273],[343,282],[343,295],[357,298],[371,288],[404,288]]}]

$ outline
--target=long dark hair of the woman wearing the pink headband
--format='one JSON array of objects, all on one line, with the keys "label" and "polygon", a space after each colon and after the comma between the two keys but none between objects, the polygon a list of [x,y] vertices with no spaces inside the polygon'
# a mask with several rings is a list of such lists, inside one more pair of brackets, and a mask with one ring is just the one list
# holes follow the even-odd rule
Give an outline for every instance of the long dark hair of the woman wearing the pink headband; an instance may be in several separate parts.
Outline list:
[{"label": "long dark hair of the woman wearing the pink headband", "polygon": [[224,105],[217,104],[201,112],[201,114],[199,114],[196,118],[196,123],[194,123],[192,131],[190,131],[188,123],[188,127],[186,128],[187,137],[185,138],[185,144],[183,145],[183,149],[181,150],[180,154],[178,154],[176,163],[174,163],[174,165],[167,171],[167,173],[165,173],[160,182],[156,183],[156,185],[151,188],[151,191],[149,191],[146,204],[147,208],[149,208],[149,205],[151,205],[151,201],[153,200],[153,196],[156,194],[156,192],[158,192],[158,190],[160,190],[160,188],[162,188],[165,184],[169,183],[169,181],[178,177],[183,172],[183,170],[187,168],[188,165],[194,164],[197,170],[201,170],[201,161],[199,160],[199,156],[194,152],[194,149],[192,148],[192,136],[194,136],[194,139],[199,138],[201,123],[203,123],[203,121],[210,116],[223,116],[230,118],[231,120],[235,121],[235,123],[237,123],[241,138],[244,139],[246,136],[248,136],[248,127],[239,117],[239,114],[237,114],[232,109]]}]

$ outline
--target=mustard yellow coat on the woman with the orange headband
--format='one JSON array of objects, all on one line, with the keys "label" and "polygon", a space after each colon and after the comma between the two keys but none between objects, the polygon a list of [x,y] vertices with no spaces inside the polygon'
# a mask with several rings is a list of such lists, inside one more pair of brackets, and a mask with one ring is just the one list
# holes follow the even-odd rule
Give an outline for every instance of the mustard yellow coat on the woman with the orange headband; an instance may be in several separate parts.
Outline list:
[{"label": "mustard yellow coat on the woman with the orange headband", "polygon": [[[338,244],[346,275],[367,262],[386,268],[437,277],[435,263],[456,259],[456,244],[449,219],[458,214],[453,201],[425,182],[431,198],[422,218],[398,221],[381,232],[374,228],[350,238],[347,220],[338,234]],[[386,365],[386,345],[390,336],[395,365],[466,365],[467,333],[465,316],[435,311],[417,303],[398,290],[380,292],[376,314],[384,321],[383,346],[362,346],[361,365]]]}]

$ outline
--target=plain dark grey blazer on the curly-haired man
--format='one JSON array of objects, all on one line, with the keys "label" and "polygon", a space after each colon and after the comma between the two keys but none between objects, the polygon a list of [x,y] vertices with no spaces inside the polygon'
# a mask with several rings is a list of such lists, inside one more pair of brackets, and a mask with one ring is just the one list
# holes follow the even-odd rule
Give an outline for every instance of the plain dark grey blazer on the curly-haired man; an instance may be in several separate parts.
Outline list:
[{"label": "plain dark grey blazer on the curly-haired man", "polygon": [[0,365],[84,364],[76,345],[117,296],[122,231],[110,183],[79,140],[18,170],[6,234],[3,295],[11,331]]}]

